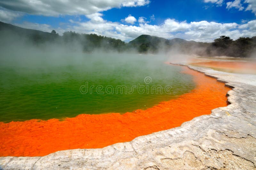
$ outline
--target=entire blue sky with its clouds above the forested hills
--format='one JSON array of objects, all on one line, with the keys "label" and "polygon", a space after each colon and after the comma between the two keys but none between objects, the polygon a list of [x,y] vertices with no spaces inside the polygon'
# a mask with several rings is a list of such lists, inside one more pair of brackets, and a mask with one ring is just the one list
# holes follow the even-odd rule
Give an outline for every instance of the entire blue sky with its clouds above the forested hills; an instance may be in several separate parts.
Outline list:
[{"label": "entire blue sky with its clouds above the forested hills", "polygon": [[256,36],[256,0],[1,0],[0,21],[125,42],[142,34],[212,42],[220,35]]}]

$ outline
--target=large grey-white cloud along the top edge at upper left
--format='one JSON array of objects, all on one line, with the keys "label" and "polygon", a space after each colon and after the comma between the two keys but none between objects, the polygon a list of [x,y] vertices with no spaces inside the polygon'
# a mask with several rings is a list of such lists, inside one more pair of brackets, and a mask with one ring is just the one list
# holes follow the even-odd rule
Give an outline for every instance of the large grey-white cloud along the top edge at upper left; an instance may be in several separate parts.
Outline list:
[{"label": "large grey-white cloud along the top edge at upper left", "polygon": [[149,0],[1,0],[0,6],[33,15],[59,16],[61,14],[89,15],[111,8],[144,6],[149,3]]}]

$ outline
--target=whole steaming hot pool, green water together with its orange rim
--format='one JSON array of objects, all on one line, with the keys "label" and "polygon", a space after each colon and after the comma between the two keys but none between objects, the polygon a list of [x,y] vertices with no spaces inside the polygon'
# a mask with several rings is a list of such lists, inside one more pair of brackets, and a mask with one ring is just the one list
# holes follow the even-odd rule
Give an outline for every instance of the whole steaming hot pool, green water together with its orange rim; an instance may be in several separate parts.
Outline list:
[{"label": "whole steaming hot pool, green water together with its orange rim", "polygon": [[[186,66],[165,64],[168,58],[160,55],[67,56],[24,57],[19,62],[4,58],[0,156],[102,148],[178,127],[227,105],[230,89],[223,83]],[[131,94],[82,94],[86,81],[88,87],[103,89],[125,85],[128,92],[140,83],[145,92],[135,88]],[[147,93],[146,87],[153,85],[172,88],[168,94],[156,94],[156,89]]]}]

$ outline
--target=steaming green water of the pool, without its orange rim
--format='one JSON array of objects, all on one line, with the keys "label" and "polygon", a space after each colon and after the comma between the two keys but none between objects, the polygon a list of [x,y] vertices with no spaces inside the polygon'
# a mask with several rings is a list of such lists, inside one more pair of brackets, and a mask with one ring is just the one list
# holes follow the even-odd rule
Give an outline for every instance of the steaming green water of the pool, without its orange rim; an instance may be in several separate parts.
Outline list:
[{"label": "steaming green water of the pool, without its orange rim", "polygon": [[[0,121],[145,110],[194,89],[192,76],[180,73],[180,66],[164,64],[167,59],[161,55],[9,52],[0,62]],[[145,86],[144,93],[138,91],[138,83]],[[99,85],[104,94],[96,90]],[[151,92],[152,86],[159,85],[162,94],[156,88]],[[120,86],[126,92],[116,89]],[[171,87],[168,93],[166,86]],[[88,92],[82,94],[80,89]]]}]

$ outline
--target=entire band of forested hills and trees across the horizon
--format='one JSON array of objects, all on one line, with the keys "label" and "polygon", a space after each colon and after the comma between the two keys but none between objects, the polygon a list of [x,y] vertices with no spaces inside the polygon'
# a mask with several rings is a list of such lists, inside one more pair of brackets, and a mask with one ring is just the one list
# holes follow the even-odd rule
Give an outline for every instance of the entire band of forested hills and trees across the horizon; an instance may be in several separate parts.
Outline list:
[{"label": "entire band of forested hills and trees across the horizon", "polygon": [[60,36],[55,30],[47,33],[0,22],[0,38],[2,39],[0,45],[4,44],[3,40],[10,41],[8,35],[12,35],[10,37],[14,38],[13,41],[16,41],[15,36],[19,37],[17,41],[20,37],[23,37],[27,42],[36,46],[53,43],[70,49],[76,47],[84,52],[101,49],[103,51],[124,52],[134,50],[139,53],[158,53],[175,49],[184,54],[199,56],[250,57],[256,51],[256,36],[252,38],[240,37],[237,40],[232,40],[230,37],[223,35],[215,39],[213,43],[202,43],[180,38],[167,40],[156,36],[140,35],[129,43],[125,43],[120,39],[96,34],[79,34],[68,31]]}]

